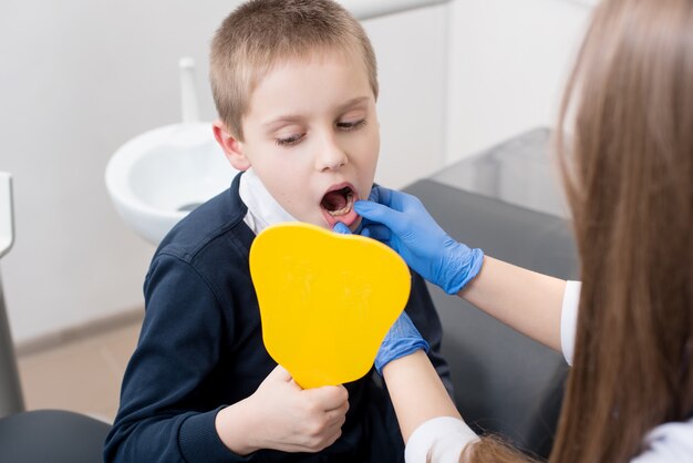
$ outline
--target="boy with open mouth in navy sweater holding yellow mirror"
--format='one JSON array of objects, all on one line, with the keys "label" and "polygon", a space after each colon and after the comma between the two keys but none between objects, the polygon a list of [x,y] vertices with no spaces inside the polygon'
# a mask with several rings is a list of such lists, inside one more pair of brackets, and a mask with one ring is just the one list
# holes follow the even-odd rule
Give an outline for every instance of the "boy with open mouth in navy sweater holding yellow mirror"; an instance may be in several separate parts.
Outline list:
[{"label": "boy with open mouth in navy sweater holding yellow mirror", "polygon": [[[301,390],[272,361],[248,270],[252,239],[270,224],[359,227],[353,203],[369,196],[380,148],[371,44],[331,0],[251,0],[217,31],[210,73],[214,134],[245,173],[154,256],[105,459],[401,462],[380,378]],[[406,310],[446,377],[418,276]]]}]

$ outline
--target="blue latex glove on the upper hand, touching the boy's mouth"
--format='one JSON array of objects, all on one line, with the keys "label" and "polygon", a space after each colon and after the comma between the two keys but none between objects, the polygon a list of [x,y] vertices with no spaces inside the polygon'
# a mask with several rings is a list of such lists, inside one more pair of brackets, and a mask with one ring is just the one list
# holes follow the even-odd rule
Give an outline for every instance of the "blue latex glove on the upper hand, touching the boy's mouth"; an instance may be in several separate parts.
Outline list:
[{"label": "blue latex glove on the upper hand, touching the boy's mouth", "polygon": [[448,295],[457,294],[482,269],[484,253],[451,238],[415,196],[374,186],[369,200],[356,202],[354,209],[365,219],[363,236],[393,248]]}]

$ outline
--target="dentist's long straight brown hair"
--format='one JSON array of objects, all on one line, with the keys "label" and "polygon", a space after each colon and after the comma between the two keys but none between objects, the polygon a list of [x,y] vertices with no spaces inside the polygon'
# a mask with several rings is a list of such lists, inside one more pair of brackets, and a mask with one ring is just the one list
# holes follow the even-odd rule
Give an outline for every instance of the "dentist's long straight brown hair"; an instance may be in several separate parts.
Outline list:
[{"label": "dentist's long straight brown hair", "polygon": [[549,461],[628,462],[693,415],[693,0],[603,0],[558,126],[582,291]]}]

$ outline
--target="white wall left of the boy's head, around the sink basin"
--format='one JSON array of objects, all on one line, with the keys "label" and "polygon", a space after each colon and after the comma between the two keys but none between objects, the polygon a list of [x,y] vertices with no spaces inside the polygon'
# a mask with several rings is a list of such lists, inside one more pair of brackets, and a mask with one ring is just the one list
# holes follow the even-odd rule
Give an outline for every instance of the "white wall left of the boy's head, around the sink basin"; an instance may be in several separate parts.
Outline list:
[{"label": "white wall left of the boy's head, around the sink basin", "polygon": [[3,1],[0,169],[14,176],[17,240],[1,270],[15,341],[142,306],[153,247],[116,216],[104,168],[130,137],[179,120],[178,58],[205,63],[229,8]]}]

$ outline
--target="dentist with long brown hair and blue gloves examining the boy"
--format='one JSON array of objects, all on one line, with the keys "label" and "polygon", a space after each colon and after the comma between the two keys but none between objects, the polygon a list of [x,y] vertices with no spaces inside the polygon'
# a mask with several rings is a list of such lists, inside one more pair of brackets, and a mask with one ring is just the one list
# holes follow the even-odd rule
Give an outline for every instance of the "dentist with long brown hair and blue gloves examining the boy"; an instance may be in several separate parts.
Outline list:
[{"label": "dentist with long brown hair and blue gloves examining the boy", "polygon": [[[562,351],[572,369],[549,462],[693,462],[693,1],[596,7],[558,127],[571,133],[557,146],[581,284],[484,256],[382,187],[355,205],[362,234]],[[401,318],[375,361],[406,461],[529,461],[469,430],[425,349]]]}]

